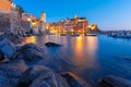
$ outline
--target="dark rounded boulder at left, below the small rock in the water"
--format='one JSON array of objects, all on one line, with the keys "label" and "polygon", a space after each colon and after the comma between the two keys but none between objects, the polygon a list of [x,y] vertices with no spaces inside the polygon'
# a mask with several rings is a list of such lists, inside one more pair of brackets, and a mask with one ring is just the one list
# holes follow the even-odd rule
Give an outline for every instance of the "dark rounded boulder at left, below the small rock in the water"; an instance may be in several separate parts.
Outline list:
[{"label": "dark rounded boulder at left, below the small rock in the water", "polygon": [[14,53],[13,59],[16,58],[24,58],[28,61],[35,61],[36,59],[44,58],[44,55],[43,50],[38,46],[34,44],[26,44]]}]

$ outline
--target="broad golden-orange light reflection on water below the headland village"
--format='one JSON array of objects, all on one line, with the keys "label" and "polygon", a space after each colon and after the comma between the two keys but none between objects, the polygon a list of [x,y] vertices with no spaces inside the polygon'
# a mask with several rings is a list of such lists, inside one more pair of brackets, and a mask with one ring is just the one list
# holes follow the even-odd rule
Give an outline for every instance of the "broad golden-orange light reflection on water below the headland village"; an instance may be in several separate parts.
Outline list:
[{"label": "broad golden-orange light reflection on water below the headland village", "polygon": [[[75,53],[75,60],[74,63],[76,65],[85,65],[94,66],[95,62],[95,53],[97,49],[97,37],[76,37],[74,40],[74,53]],[[84,57],[85,51],[88,57]]]}]

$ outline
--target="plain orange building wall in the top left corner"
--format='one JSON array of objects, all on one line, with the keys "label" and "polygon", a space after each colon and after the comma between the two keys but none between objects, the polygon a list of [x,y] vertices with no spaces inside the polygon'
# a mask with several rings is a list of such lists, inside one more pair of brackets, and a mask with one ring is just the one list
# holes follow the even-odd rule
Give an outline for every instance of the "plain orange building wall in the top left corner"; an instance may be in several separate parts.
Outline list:
[{"label": "plain orange building wall in the top left corner", "polygon": [[0,0],[0,11],[11,12],[12,0]]}]

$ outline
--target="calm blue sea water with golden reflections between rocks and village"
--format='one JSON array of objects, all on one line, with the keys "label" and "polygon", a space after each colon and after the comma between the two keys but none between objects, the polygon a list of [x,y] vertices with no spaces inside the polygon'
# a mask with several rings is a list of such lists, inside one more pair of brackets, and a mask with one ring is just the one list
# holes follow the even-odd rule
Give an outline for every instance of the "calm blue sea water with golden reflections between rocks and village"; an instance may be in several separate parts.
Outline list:
[{"label": "calm blue sea water with golden reflections between rocks and village", "polygon": [[[61,47],[46,47],[45,42]],[[60,72],[73,72],[96,86],[107,75],[131,79],[131,39],[116,39],[106,35],[92,36],[33,36],[25,44],[34,42],[45,49],[45,59],[38,64]]]}]

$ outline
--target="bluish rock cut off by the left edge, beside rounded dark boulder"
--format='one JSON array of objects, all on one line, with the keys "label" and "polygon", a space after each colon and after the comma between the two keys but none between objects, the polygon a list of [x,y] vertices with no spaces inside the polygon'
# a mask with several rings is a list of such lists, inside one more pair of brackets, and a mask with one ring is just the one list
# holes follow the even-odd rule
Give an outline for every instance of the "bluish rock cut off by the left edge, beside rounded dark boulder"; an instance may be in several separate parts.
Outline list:
[{"label": "bluish rock cut off by the left edge, beside rounded dark boulder", "polygon": [[13,45],[8,39],[2,40],[0,42],[1,61],[3,61],[3,60],[11,60],[11,58],[13,57],[15,50],[16,50],[16,46],[15,45]]}]

